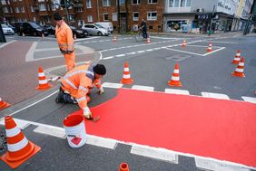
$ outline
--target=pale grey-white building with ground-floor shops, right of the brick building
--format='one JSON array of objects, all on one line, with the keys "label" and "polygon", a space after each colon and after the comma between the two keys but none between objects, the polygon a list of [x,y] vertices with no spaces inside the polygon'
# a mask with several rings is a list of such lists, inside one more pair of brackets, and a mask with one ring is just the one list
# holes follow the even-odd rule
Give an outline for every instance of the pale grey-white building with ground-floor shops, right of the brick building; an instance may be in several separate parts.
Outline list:
[{"label": "pale grey-white building with ground-floor shops, right of the brick building", "polygon": [[231,31],[238,0],[165,0],[166,32],[206,33]]}]

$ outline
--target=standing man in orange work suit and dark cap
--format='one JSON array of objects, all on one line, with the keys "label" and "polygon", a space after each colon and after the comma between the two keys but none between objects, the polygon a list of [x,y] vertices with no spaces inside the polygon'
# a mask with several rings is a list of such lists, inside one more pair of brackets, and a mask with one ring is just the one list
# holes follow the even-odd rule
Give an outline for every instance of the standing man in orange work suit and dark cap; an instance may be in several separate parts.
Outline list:
[{"label": "standing man in orange work suit and dark cap", "polygon": [[63,17],[55,13],[54,21],[56,24],[55,35],[59,44],[60,51],[64,54],[66,70],[71,71],[75,67],[74,40],[70,27],[64,23]]}]

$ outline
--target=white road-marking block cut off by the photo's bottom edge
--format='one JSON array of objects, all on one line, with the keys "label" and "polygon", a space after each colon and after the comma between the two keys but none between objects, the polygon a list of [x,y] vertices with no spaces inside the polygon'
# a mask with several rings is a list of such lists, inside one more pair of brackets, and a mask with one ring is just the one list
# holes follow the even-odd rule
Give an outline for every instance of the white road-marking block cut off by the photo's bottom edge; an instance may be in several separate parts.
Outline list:
[{"label": "white road-marking block cut off by the photo's bottom edge", "polygon": [[206,170],[218,170],[218,171],[250,171],[250,169],[244,166],[228,165],[227,162],[211,161],[204,158],[195,157],[195,165],[199,168]]}]

